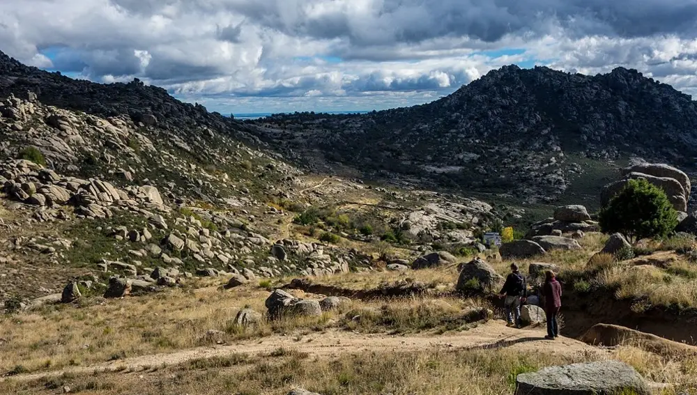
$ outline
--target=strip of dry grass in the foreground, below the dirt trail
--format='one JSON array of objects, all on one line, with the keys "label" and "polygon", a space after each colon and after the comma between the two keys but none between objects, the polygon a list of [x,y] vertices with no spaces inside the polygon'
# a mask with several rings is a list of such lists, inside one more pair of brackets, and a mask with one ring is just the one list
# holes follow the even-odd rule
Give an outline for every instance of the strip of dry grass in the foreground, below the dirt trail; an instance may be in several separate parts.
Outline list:
[{"label": "strip of dry grass in the foreground, below the dirt trail", "polygon": [[153,395],[285,395],[296,387],[324,395],[512,394],[519,373],[599,358],[619,359],[651,380],[674,384],[664,395],[687,391],[697,375],[694,357],[663,359],[629,347],[620,347],[607,357],[598,354],[562,357],[544,349],[520,353],[505,348],[457,351],[431,348],[419,353],[359,353],[315,359],[283,350],[266,357],[232,355],[136,374],[98,373],[36,382],[1,382],[0,392],[45,394],[46,389],[53,393],[50,389],[68,386],[72,392],[95,390],[89,393],[103,395],[132,393],[133,388]]}]

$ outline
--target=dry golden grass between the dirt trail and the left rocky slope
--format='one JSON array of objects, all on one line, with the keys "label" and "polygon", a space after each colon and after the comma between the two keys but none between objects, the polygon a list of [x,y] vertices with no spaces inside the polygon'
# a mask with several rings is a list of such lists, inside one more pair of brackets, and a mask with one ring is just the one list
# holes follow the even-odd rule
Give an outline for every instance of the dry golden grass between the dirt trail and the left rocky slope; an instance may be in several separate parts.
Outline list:
[{"label": "dry golden grass between the dirt trail and the left rocky slope", "polygon": [[[312,297],[300,291],[291,292],[298,297]],[[249,328],[233,324],[236,313],[245,307],[266,312],[266,297],[268,291],[259,287],[240,287],[231,291],[208,287],[123,300],[102,300],[100,304],[82,308],[48,306],[36,312],[6,316],[0,318],[0,339],[6,339],[6,343],[2,343],[0,372],[8,372],[17,365],[21,365],[24,371],[86,366],[221,341],[231,343],[270,334],[291,334],[298,330],[316,332],[332,325],[365,332],[442,332],[464,327],[472,318],[463,310],[477,305],[471,300],[421,298],[367,304],[353,302],[320,317],[264,320]],[[369,309],[376,313],[371,320],[354,323],[345,319],[351,309]],[[224,333],[207,336],[208,330]]]}]

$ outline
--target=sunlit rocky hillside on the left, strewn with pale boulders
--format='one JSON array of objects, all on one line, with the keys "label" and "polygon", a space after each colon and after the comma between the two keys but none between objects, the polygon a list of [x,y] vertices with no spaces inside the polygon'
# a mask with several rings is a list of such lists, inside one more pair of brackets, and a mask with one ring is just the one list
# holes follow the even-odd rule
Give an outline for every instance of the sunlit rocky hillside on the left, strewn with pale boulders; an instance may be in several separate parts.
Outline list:
[{"label": "sunlit rocky hillside on the left, strewn with pale boulders", "polygon": [[0,86],[0,302],[372,270],[401,262],[391,246],[484,251],[475,234],[499,221],[476,199],[307,174],[243,125],[137,81],[0,56]]}]

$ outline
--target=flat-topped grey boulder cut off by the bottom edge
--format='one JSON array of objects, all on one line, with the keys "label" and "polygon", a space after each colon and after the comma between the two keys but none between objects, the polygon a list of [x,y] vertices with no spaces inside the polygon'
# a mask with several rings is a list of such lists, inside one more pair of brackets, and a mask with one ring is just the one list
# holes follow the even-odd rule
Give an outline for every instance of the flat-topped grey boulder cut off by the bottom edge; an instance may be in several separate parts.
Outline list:
[{"label": "flat-topped grey boulder cut off by the bottom edge", "polygon": [[618,361],[549,366],[516,378],[516,395],[650,395],[633,367]]}]

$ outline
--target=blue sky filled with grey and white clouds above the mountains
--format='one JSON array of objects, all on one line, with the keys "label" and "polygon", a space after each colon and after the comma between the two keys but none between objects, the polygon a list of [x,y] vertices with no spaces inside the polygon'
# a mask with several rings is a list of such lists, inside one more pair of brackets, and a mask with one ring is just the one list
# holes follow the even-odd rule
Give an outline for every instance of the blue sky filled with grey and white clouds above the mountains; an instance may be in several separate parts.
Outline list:
[{"label": "blue sky filled with grey and white clouds above the mountains", "polygon": [[0,50],[224,114],[420,104],[512,63],[697,98],[697,0],[0,0]]}]

